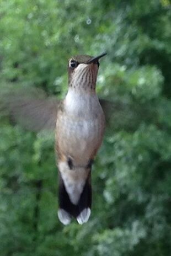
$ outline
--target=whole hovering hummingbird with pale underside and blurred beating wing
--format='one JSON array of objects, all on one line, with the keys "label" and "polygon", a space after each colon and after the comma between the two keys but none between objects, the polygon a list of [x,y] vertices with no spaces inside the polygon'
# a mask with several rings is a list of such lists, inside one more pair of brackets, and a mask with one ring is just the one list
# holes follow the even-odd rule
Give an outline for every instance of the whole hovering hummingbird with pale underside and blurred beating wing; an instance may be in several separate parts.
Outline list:
[{"label": "whole hovering hummingbird with pale underside and blurred beating wing", "polygon": [[[32,129],[55,129],[59,177],[58,218],[67,225],[72,217],[87,222],[92,204],[91,169],[101,145],[105,117],[95,92],[99,59],[78,55],[68,61],[68,92],[65,99],[12,95],[8,109],[14,118]],[[24,121],[23,121],[24,120]]]}]

